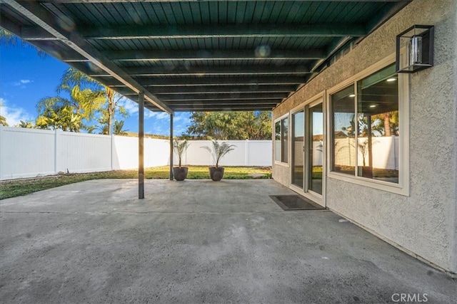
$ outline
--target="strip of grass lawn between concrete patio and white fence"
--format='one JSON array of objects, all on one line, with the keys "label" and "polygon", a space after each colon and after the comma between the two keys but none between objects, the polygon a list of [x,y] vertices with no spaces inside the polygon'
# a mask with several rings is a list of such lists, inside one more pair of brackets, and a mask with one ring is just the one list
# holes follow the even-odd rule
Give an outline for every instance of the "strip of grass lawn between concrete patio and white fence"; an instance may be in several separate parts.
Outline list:
[{"label": "strip of grass lawn between concrete patio and white fence", "polygon": [[[252,179],[251,174],[263,174],[263,177],[270,178],[271,167],[225,167],[224,179]],[[144,169],[146,179],[169,179],[170,167],[151,167]],[[138,169],[114,170],[92,173],[70,173],[39,177],[34,179],[20,179],[0,182],[0,199],[8,199],[33,192],[84,182],[91,179],[137,179]],[[187,179],[209,179],[208,166],[189,166]]]}]

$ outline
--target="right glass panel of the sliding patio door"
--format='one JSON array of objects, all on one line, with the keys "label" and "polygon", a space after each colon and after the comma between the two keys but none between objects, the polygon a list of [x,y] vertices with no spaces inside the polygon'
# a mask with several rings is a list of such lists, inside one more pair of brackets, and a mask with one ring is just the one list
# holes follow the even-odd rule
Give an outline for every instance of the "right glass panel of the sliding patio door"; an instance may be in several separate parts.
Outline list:
[{"label": "right glass panel of the sliding patio door", "polygon": [[322,194],[323,111],[322,103],[309,108],[308,190]]}]

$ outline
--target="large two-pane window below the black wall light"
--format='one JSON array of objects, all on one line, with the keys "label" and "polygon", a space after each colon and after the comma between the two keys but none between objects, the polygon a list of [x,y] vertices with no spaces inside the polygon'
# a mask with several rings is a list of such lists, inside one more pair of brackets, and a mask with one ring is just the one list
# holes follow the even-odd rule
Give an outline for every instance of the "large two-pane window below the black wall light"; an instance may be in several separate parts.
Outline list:
[{"label": "large two-pane window below the black wall light", "polygon": [[331,172],[399,184],[400,88],[388,65],[330,95]]}]

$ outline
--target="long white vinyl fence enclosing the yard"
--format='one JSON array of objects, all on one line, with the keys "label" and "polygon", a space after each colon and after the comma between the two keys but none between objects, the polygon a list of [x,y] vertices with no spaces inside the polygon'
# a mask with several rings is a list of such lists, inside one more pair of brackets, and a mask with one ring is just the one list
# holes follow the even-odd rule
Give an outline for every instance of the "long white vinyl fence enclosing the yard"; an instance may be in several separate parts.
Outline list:
[{"label": "long white vinyl fence enclosing the yard", "polygon": [[[270,140],[231,140],[235,150],[224,166],[271,166]],[[192,140],[183,163],[214,164],[201,149],[209,140]],[[144,167],[169,164],[169,140],[144,139]],[[174,164],[178,163],[176,154]],[[138,167],[138,138],[35,130],[0,125],[0,180],[37,177],[59,172],[97,172]]]}]

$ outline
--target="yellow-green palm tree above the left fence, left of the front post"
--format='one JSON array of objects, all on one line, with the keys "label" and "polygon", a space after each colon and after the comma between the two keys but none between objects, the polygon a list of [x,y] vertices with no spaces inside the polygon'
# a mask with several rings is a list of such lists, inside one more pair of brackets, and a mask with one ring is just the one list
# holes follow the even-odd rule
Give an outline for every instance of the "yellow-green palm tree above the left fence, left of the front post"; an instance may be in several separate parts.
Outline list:
[{"label": "yellow-green palm tree above the left fence, left of the front post", "polygon": [[[61,96],[62,92],[69,98]],[[37,105],[36,125],[41,128],[79,132],[86,128],[83,121],[92,120],[106,101],[99,83],[74,68],[66,70],[57,93],[58,96],[43,98]]]}]

